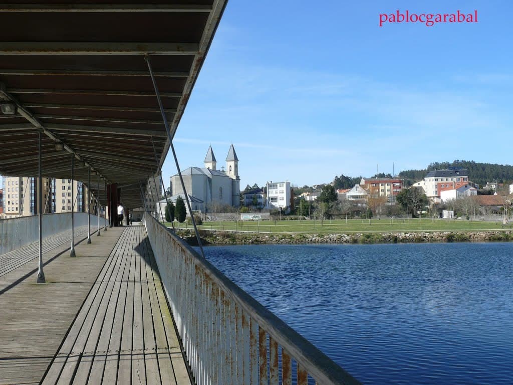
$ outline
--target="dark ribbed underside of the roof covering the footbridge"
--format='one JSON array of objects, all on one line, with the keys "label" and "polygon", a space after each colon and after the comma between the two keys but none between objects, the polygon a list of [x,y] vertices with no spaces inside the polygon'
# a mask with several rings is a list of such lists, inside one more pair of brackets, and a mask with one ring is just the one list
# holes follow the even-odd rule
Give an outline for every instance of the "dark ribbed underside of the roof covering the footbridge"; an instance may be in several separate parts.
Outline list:
[{"label": "dark ribbed underside of the roof covering the footbridge", "polygon": [[73,179],[93,169],[93,190],[117,183],[142,206],[169,149],[145,56],[172,138],[226,0],[2,3],[0,103],[17,112],[0,113],[0,174],[37,176],[42,132],[44,177],[71,178],[74,157]]}]

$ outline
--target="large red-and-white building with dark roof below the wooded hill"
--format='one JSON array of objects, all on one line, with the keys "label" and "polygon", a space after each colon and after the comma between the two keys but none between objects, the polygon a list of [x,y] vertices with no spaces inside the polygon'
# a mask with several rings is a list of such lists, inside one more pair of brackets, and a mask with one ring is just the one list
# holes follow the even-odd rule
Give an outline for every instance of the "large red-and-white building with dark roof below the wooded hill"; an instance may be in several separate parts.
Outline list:
[{"label": "large red-and-white building with dark roof below the wooded hill", "polygon": [[457,189],[469,184],[471,183],[468,181],[466,169],[450,167],[446,170],[429,171],[424,180],[414,183],[413,187],[422,187],[428,198],[440,198],[442,191]]}]

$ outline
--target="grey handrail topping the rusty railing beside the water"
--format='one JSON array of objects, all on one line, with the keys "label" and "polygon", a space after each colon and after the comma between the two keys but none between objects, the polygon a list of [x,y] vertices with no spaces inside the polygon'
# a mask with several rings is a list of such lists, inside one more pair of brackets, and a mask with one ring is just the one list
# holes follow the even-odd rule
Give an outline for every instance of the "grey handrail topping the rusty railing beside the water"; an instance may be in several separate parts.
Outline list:
[{"label": "grey handrail topping the rusty railing beside the water", "polygon": [[318,383],[322,384],[360,384],[360,382],[340,367],[331,358],[326,356],[310,341],[293,330],[282,319],[274,315],[260,302],[251,297],[242,288],[226,277],[212,263],[197,253],[187,242],[174,235],[171,230],[157,221],[150,215],[144,216],[145,220],[155,221],[165,228],[168,234],[184,247],[194,259],[211,276],[211,279],[218,284],[225,292],[257,321],[257,323],[269,333],[295,360],[301,363],[302,367],[312,375]]}]

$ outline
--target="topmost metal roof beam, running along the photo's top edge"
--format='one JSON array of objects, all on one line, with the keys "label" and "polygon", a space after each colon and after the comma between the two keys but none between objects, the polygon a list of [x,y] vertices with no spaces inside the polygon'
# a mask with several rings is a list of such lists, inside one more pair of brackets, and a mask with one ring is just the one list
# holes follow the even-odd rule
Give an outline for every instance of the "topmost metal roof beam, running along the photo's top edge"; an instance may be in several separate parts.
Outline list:
[{"label": "topmost metal roof beam, running along the photo's top edge", "polygon": [[0,12],[210,12],[204,4],[2,4]]}]

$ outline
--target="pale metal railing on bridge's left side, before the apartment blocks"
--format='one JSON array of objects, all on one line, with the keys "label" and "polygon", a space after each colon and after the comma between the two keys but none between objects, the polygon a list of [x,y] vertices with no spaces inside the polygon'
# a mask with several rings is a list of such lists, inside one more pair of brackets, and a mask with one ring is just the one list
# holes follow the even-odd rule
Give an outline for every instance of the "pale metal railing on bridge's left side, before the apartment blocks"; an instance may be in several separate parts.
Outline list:
[{"label": "pale metal railing on bridge's left side, before the apartment blocks", "polygon": [[[71,229],[71,213],[44,214],[43,238]],[[91,223],[98,217],[91,214]],[[87,213],[74,213],[75,227],[87,225]],[[0,255],[39,239],[37,215],[0,220]],[[93,226],[91,226],[93,228]]]}]

